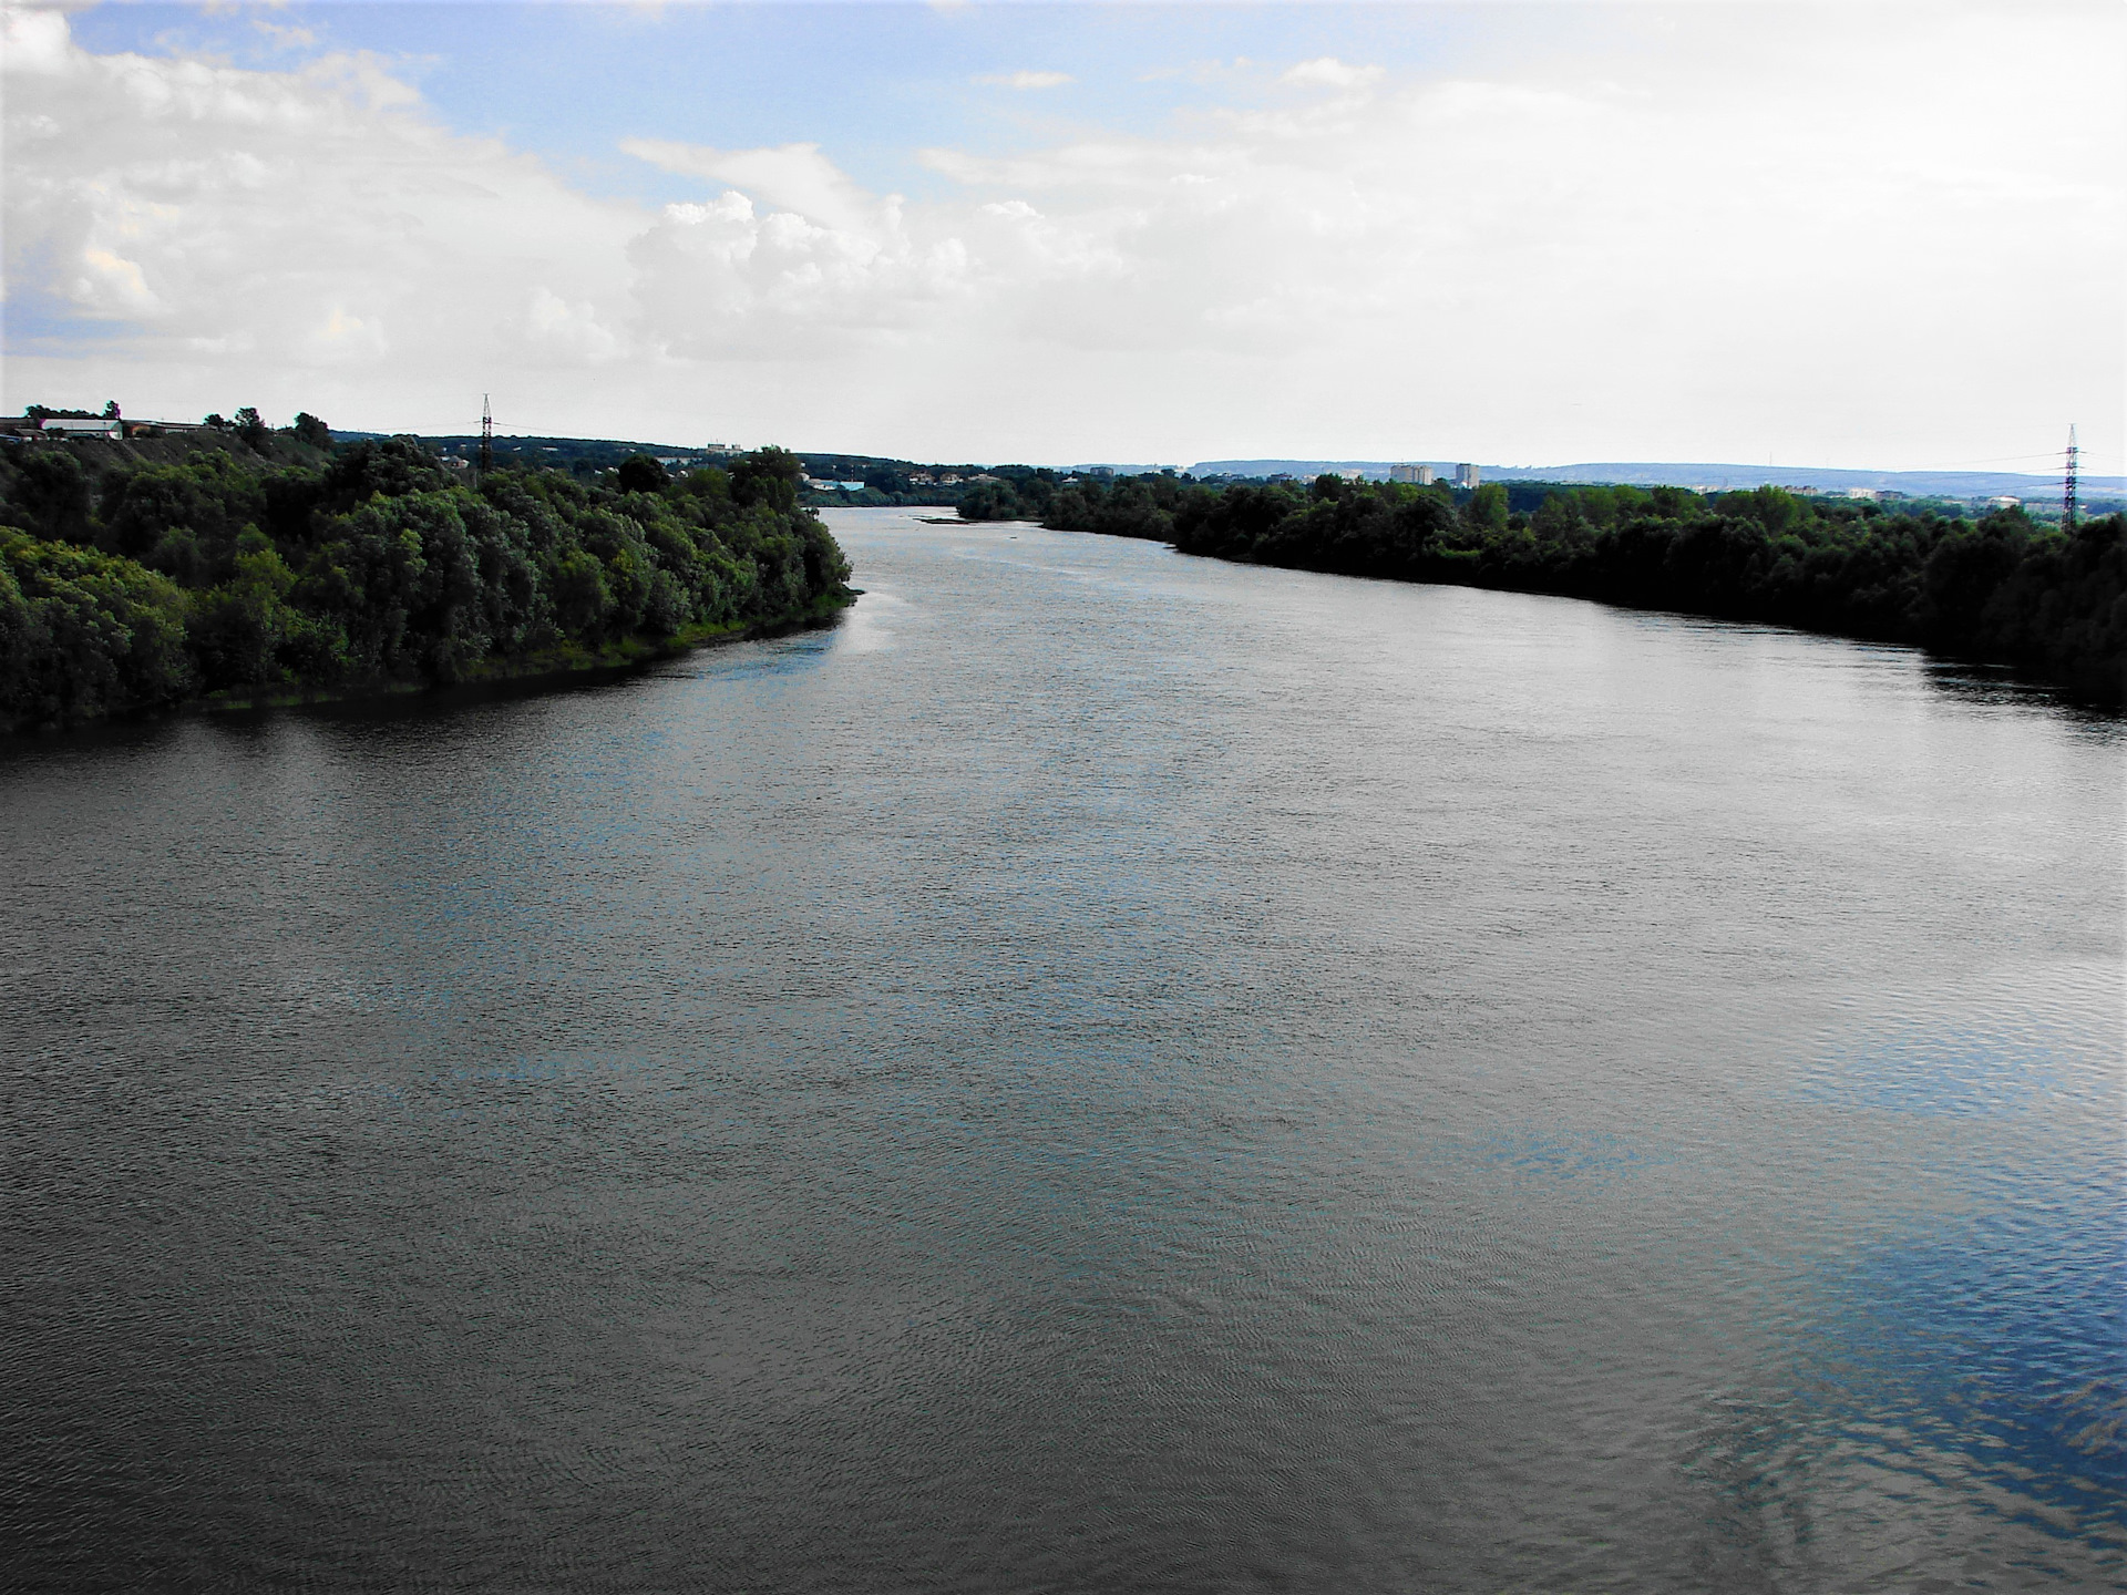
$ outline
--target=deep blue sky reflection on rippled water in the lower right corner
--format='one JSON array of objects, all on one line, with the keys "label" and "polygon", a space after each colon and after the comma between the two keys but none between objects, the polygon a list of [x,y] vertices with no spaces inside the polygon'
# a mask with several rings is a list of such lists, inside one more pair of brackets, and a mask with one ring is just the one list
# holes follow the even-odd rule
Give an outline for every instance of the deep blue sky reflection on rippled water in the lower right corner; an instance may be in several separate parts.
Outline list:
[{"label": "deep blue sky reflection on rippled water in the lower right corner", "polygon": [[[1953,1544],[1965,1578],[2116,1569],[2116,1229],[1976,1223],[1861,1257],[1823,1282],[1793,1382],[1725,1401],[1689,1465],[1723,1484],[1768,1561],[1814,1565],[1827,1586],[1857,1561],[1897,1567],[1899,1550],[1946,1567]],[[1974,1518],[2004,1527],[1974,1544]]]}]

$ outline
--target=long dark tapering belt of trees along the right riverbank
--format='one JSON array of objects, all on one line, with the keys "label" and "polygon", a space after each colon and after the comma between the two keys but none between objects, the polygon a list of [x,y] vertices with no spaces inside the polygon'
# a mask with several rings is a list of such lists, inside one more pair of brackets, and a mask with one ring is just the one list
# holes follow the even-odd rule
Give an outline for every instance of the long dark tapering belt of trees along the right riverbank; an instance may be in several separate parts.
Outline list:
[{"label": "long dark tapering belt of trees along the right riverbank", "polygon": [[[1500,485],[1202,487],[1174,476],[1042,483],[1029,519],[1183,553],[1346,576],[1597,598],[1731,621],[1914,642],[2023,668],[2078,698],[2127,698],[2123,517],[2042,527],[1827,502],[1759,487],[1553,487],[1510,513]],[[1036,493],[1027,493],[1032,500]],[[1012,489],[1019,500],[1017,489]],[[991,498],[1004,498],[995,493]],[[987,519],[1004,504],[964,502]],[[1019,500],[1012,508],[1034,506]]]}]

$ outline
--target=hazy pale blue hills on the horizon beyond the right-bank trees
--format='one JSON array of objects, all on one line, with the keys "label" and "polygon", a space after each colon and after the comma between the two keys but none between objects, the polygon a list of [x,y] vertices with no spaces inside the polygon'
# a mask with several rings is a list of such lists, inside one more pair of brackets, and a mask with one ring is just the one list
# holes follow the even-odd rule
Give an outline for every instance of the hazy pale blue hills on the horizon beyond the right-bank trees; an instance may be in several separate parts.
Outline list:
[{"label": "hazy pale blue hills on the horizon beyond the right-bank trees", "polygon": [[[1442,476],[1453,476],[1455,461],[1427,461]],[[1191,476],[1300,476],[1357,470],[1370,481],[1389,474],[1387,459],[1202,459]],[[1634,487],[1814,487],[1833,493],[1846,487],[1910,493],[1912,498],[2016,498],[2046,500],[2061,496],[2059,476],[2029,476],[2008,470],[1842,470],[1836,466],[1721,466],[1661,464],[1646,459],[1595,461],[1580,466],[1480,466],[1493,483],[1629,483]],[[2087,496],[2116,498],[2127,493],[2127,476],[2084,476]]]}]

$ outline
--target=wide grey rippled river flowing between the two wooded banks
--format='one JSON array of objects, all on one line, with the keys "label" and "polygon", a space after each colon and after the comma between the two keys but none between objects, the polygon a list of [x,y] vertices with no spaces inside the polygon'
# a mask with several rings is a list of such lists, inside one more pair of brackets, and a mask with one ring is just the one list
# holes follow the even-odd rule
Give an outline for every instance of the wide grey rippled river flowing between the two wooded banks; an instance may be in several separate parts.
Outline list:
[{"label": "wide grey rippled river flowing between the two wooded banks", "polygon": [[834,525],[832,629],[0,753],[0,1582],[2121,1576],[2121,721]]}]

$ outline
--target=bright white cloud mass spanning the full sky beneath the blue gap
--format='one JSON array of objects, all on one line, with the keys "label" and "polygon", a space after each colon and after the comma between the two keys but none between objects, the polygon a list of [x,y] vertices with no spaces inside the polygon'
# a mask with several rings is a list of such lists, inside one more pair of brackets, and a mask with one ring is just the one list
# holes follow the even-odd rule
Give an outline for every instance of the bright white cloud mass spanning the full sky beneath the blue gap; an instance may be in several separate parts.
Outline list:
[{"label": "bright white cloud mass spanning the full sky beneath the blue gap", "polygon": [[1323,57],[1283,81],[1332,94],[1166,136],[921,151],[925,202],[817,142],[644,136],[702,181],[647,208],[370,57],[98,57],[9,11],[9,291],[104,336],[17,340],[4,387],[383,427],[493,389],[506,425],[940,457],[1889,466],[2070,415],[2106,451],[2118,26],[1921,15],[1687,11],[1555,72]]}]

